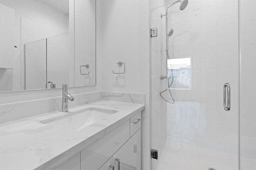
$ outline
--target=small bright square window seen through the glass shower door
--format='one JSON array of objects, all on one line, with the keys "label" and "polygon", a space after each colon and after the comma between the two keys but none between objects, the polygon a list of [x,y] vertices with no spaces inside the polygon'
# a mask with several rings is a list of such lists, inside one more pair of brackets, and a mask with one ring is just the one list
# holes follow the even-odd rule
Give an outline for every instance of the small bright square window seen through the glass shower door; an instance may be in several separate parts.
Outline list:
[{"label": "small bright square window seen through the glass shower door", "polygon": [[191,58],[168,59],[167,69],[173,77],[171,89],[191,89]]}]

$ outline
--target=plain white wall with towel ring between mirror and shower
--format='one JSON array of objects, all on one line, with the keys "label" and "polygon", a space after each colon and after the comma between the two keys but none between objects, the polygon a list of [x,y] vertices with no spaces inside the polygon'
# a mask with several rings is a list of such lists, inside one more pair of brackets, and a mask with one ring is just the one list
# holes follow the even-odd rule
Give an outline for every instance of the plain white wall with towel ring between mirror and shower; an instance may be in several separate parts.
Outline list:
[{"label": "plain white wall with towel ring between mirror and shower", "polygon": [[[97,2],[97,56],[102,58],[103,90],[140,92],[139,68],[139,6],[138,0],[98,0]],[[116,83],[112,73],[122,72],[117,62],[122,61],[126,73]]]}]

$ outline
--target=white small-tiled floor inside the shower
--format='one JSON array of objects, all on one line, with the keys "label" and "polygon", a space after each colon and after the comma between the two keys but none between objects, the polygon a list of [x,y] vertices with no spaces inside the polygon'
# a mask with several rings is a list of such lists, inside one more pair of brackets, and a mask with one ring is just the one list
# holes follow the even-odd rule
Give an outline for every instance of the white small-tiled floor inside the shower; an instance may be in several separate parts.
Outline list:
[{"label": "white small-tiled floor inside the shower", "polygon": [[[256,159],[242,158],[242,170],[256,170]],[[237,170],[237,156],[180,144],[167,137],[157,170]]]}]

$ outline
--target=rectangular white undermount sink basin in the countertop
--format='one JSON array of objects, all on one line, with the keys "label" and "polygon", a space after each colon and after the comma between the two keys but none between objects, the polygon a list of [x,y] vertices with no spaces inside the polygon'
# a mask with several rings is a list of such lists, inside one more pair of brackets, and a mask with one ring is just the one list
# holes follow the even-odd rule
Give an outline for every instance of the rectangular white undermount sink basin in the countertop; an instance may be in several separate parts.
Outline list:
[{"label": "rectangular white undermount sink basin in the countertop", "polygon": [[65,115],[46,119],[40,121],[40,123],[47,124],[56,128],[62,128],[63,130],[77,131],[116,112],[118,111],[89,107],[74,112],[68,112]]}]

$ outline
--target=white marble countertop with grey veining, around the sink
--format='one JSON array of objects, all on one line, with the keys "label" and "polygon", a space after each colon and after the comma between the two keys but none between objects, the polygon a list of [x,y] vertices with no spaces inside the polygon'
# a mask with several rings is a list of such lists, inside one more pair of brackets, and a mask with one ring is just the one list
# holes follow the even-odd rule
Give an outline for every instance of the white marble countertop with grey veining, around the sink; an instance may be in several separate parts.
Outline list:
[{"label": "white marble countertop with grey veining, around the sink", "polygon": [[45,113],[0,125],[0,169],[32,170],[58,166],[145,108],[144,104],[97,101],[70,111],[97,107],[118,111],[78,131],[54,128],[40,121],[63,114]]}]

